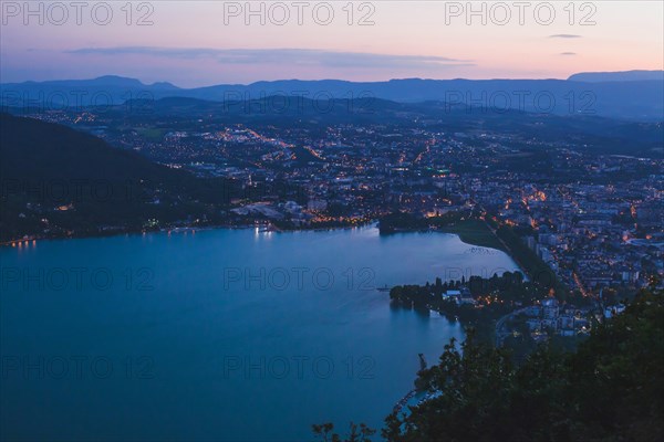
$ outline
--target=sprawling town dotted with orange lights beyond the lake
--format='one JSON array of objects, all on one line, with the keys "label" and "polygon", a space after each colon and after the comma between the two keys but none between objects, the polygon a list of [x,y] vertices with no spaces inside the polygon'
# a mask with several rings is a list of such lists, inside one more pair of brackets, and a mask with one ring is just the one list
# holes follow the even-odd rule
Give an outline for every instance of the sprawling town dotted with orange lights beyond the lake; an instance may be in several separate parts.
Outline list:
[{"label": "sprawling town dotted with orange lights beyond the lake", "polygon": [[[28,116],[89,131],[200,179],[232,182],[216,218],[149,219],[146,229],[206,222],[343,228],[406,213],[417,229],[460,229],[463,240],[501,249],[521,267],[543,263],[558,292],[598,302],[580,311],[571,304],[551,306],[547,303],[556,297],[540,293],[539,304],[520,303],[507,312],[511,316],[496,328],[498,340],[516,329],[516,318],[535,338],[544,330],[587,333],[591,313],[604,315],[605,306],[618,306],[629,293],[662,286],[664,164],[656,143],[651,155],[643,149],[627,155],[629,148],[590,146],[602,141],[591,136],[574,140],[544,128],[540,136],[538,128],[455,125],[454,115],[418,119],[407,113],[387,123],[376,122],[381,115],[353,123],[356,115],[349,115],[324,125],[149,114],[127,126],[116,114],[94,109]],[[159,204],[158,198],[153,203]],[[477,241],[487,236],[488,242]],[[523,270],[532,280],[541,276],[537,267]],[[476,297],[474,304],[484,303]]]}]

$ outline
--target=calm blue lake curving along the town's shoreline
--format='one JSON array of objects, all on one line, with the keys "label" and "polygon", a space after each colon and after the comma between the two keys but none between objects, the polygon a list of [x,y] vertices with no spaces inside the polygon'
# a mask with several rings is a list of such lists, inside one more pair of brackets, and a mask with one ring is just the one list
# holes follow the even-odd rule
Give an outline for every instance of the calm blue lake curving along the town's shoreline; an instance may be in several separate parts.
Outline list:
[{"label": "calm blue lake curving along the town's shoreline", "polygon": [[0,249],[0,439],[311,440],[380,428],[458,324],[376,288],[516,270],[443,233],[255,229]]}]

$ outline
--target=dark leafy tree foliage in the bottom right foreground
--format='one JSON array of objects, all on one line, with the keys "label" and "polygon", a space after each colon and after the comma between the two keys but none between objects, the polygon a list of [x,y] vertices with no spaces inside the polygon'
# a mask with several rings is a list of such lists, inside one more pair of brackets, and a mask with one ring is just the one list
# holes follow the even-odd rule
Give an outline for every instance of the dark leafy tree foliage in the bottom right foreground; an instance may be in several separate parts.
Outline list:
[{"label": "dark leafy tree foliage in the bottom right foreground", "polygon": [[664,299],[642,293],[573,354],[453,340],[419,382],[440,394],[386,419],[392,442],[664,439]]}]

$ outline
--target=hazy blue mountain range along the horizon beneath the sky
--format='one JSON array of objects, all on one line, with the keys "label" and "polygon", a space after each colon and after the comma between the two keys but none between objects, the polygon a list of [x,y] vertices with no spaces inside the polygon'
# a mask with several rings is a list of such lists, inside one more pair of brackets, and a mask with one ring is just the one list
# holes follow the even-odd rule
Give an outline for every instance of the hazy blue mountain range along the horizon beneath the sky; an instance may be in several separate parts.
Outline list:
[{"label": "hazy blue mountain range along the horizon beneath the sky", "polygon": [[568,80],[284,80],[197,88],[180,88],[166,82],[144,84],[135,78],[106,75],[93,80],[6,83],[0,90],[4,108],[30,104],[46,108],[118,105],[131,99],[166,97],[234,102],[287,95],[398,103],[438,101],[496,110],[664,120],[664,71],[579,73]]}]

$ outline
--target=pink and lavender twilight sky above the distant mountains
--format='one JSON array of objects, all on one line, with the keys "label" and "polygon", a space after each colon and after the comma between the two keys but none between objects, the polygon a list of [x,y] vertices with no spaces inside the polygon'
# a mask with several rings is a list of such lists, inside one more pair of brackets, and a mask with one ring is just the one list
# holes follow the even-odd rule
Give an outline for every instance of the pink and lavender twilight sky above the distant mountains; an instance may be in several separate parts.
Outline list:
[{"label": "pink and lavender twilight sky above the distant mountains", "polygon": [[664,69],[664,2],[570,3],[2,0],[0,81],[115,74],[193,87]]}]

